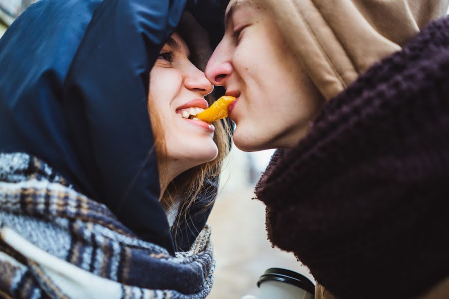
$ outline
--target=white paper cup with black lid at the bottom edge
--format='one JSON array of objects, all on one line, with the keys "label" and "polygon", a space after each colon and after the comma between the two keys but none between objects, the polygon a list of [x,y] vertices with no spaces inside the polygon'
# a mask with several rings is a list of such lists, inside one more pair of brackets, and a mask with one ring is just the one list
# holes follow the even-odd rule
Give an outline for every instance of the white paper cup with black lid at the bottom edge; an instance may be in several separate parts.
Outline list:
[{"label": "white paper cup with black lid at the bottom edge", "polygon": [[315,286],[305,276],[281,268],[270,268],[257,282],[259,299],[313,299]]}]

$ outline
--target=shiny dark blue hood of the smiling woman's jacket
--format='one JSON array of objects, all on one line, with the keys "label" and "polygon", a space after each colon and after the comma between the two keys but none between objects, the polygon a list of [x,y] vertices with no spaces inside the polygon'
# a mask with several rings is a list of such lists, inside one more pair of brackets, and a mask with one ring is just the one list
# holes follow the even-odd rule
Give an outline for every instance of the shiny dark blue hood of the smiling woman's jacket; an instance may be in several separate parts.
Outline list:
[{"label": "shiny dark blue hood of the smiling woman's jacket", "polygon": [[[0,152],[46,161],[140,238],[172,254],[147,94],[149,72],[186,2],[40,0],[0,39]],[[197,16],[212,21],[209,30],[220,28],[213,16],[218,11],[219,20],[223,11],[215,1],[187,5],[194,15],[203,9]],[[203,207],[216,194],[217,178],[209,178],[193,218],[180,225],[179,249],[196,238],[210,212]]]}]

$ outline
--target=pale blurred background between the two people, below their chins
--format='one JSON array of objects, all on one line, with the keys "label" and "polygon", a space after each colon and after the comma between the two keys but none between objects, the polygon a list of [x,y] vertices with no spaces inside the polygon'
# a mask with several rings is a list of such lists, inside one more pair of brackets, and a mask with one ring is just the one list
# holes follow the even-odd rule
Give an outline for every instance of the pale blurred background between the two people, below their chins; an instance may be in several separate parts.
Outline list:
[{"label": "pale blurred background between the two people, below their chins", "polygon": [[225,161],[220,192],[209,224],[217,268],[211,299],[257,295],[257,280],[268,268],[285,268],[314,282],[291,253],[272,248],[265,230],[265,206],[252,199],[254,185],[274,150],[243,152],[232,148]]}]

